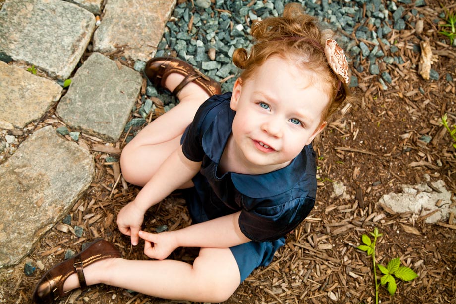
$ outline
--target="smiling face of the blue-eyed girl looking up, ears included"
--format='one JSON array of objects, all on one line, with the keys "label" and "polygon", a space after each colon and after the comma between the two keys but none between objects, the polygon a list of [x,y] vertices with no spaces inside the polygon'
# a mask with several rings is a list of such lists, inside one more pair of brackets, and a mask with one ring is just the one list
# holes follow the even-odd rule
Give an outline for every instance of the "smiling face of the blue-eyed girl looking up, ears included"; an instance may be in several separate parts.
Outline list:
[{"label": "smiling face of the blue-eyed girl looking up, ears included", "polygon": [[252,78],[236,81],[233,153],[245,169],[283,168],[323,130],[326,122],[320,120],[329,96],[319,79],[315,72],[273,56]]}]

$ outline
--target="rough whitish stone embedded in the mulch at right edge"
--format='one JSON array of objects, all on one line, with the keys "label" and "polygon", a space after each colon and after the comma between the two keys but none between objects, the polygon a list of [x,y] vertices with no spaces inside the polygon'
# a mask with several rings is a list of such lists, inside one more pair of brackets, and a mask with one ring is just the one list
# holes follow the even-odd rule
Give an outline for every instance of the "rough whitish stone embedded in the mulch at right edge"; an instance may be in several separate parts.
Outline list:
[{"label": "rough whitish stone embedded in the mulch at right edge", "polygon": [[[450,212],[456,213],[456,207],[452,205],[451,192],[445,188],[445,182],[438,180],[431,183],[436,189],[434,191],[427,184],[402,185],[403,193],[390,193],[383,195],[379,203],[391,208],[394,212],[413,212],[415,216],[423,216],[434,210],[439,210],[425,219],[426,223],[446,221]],[[440,201],[439,206],[436,203]]]}]

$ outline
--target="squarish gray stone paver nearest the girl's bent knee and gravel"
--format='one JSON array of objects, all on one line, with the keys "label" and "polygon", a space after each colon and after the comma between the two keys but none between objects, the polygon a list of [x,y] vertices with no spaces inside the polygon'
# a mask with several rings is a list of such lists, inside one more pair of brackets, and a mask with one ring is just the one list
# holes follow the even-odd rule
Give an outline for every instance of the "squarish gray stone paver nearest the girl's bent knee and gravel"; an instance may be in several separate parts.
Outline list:
[{"label": "squarish gray stone paver nearest the girl's bent knee and gravel", "polygon": [[121,69],[100,53],[93,53],[77,70],[57,106],[71,128],[107,141],[119,139],[141,89],[141,75]]}]

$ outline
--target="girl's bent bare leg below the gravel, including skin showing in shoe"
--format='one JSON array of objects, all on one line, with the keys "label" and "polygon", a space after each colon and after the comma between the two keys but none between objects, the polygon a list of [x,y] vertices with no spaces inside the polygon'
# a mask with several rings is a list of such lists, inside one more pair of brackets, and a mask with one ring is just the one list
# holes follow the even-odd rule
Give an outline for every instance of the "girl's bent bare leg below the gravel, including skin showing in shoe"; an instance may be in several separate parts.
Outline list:
[{"label": "girl's bent bare leg below the gravel, including skin showing in shoe", "polygon": [[[165,85],[172,91],[183,79],[183,75],[172,73]],[[180,146],[185,128],[209,95],[197,84],[189,83],[178,98],[177,106],[147,125],[123,149],[120,165],[126,181],[143,186],[150,180],[162,162]]]}]

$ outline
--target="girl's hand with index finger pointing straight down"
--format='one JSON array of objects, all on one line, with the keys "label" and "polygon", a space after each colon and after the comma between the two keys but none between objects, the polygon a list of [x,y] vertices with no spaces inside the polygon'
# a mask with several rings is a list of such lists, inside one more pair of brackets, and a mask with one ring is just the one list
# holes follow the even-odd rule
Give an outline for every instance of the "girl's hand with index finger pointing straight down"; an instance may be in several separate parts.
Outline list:
[{"label": "girl's hand with index finger pointing straight down", "polygon": [[138,232],[144,220],[144,212],[134,201],[124,206],[117,215],[117,226],[124,235],[131,237],[131,244],[136,246],[139,241]]}]

